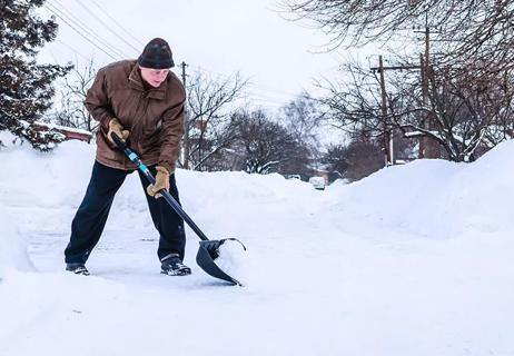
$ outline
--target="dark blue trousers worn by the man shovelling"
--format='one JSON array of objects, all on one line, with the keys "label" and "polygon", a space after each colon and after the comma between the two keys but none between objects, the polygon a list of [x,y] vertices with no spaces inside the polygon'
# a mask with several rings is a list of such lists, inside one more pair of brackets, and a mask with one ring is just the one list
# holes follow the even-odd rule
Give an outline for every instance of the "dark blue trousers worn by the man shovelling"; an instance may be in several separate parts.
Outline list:
[{"label": "dark blue trousers worn by the man shovelling", "polygon": [[[155,176],[155,167],[148,168]],[[115,195],[123,184],[127,175],[131,172],[131,170],[115,169],[103,166],[98,161],[95,162],[86,196],[71,222],[70,243],[65,250],[65,260],[67,264],[85,264],[88,260],[89,255],[98,244],[103,231]],[[146,194],[146,187],[149,184],[140,172],[139,179],[145,190],[151,219],[160,235],[159,247],[157,249],[159,259],[169,254],[178,254],[184,259],[186,248],[184,220],[165,199],[155,199]],[[175,175],[170,176],[169,182],[169,192],[180,204]]]}]

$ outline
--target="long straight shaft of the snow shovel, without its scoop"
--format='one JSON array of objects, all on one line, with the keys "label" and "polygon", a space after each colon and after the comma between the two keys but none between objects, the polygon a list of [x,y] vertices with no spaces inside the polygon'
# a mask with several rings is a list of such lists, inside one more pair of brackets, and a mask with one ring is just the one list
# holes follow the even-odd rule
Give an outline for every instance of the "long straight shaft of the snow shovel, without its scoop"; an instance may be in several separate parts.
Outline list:
[{"label": "long straight shaft of the snow shovel, without its scoop", "polygon": [[[142,172],[147,180],[154,185],[156,182],[156,178],[148,169],[148,167],[141,161],[139,156],[130,147],[128,147],[127,144],[118,137],[118,135],[112,132],[111,137],[115,144],[118,146],[118,148],[121,149],[125,152],[125,155],[127,155],[127,157],[137,166],[137,168]],[[187,222],[187,225],[195,231],[196,235],[198,235],[198,237],[201,240],[209,240],[207,236],[204,234],[204,231],[201,231],[200,228],[195,224],[195,221],[192,221],[192,219],[186,214],[186,211],[184,211],[182,207],[178,204],[177,200],[175,200],[175,198],[169,194],[168,190],[161,189],[159,190],[159,194],[162,195],[162,198],[166,200],[166,202],[168,202],[171,206],[175,212],[177,212],[178,216],[180,216]]]}]

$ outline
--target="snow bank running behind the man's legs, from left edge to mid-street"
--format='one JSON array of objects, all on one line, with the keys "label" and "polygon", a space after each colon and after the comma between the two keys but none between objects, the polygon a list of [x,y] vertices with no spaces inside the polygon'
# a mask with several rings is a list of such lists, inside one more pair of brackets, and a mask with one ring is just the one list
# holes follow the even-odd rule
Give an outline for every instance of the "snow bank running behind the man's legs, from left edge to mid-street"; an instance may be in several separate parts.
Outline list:
[{"label": "snow bank running behind the man's legs, from left edge to mid-street", "polygon": [[[62,142],[51,152],[38,152],[28,146],[0,150],[2,167],[7,174],[0,178],[0,185],[10,190],[3,196],[0,192],[0,200],[17,197],[18,201],[7,201],[8,205],[77,207],[91,175],[95,150],[95,145],[76,140]],[[307,182],[287,180],[277,174],[260,176],[177,169],[176,175],[181,201],[187,210],[202,215],[202,211],[214,209],[219,212],[218,218],[226,215],[251,214],[254,206],[277,200],[287,201],[291,195],[306,195],[306,201],[310,199],[310,195],[316,195]],[[220,204],[227,199],[234,204]],[[136,215],[140,216],[141,211],[147,209],[145,192],[136,172],[127,177],[116,196],[113,208],[122,211],[125,217],[121,217],[120,221],[128,224],[135,220]],[[117,219],[116,216],[113,218]]]}]

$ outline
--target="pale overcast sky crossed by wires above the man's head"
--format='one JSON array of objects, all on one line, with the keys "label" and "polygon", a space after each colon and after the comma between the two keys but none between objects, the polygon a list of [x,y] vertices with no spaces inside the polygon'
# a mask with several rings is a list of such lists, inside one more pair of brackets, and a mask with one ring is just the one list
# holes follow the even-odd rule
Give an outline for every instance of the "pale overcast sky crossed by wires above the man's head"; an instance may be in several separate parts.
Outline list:
[{"label": "pale overcast sky crossed by wires above the man's head", "polygon": [[175,62],[187,62],[188,70],[240,71],[251,82],[251,100],[263,107],[313,91],[316,79],[333,77],[337,68],[336,56],[323,53],[328,38],[280,17],[278,0],[48,0],[42,16],[50,10],[60,27],[57,41],[41,51],[43,61],[80,66],[95,58],[101,67],[137,58],[150,39],[162,37]]}]

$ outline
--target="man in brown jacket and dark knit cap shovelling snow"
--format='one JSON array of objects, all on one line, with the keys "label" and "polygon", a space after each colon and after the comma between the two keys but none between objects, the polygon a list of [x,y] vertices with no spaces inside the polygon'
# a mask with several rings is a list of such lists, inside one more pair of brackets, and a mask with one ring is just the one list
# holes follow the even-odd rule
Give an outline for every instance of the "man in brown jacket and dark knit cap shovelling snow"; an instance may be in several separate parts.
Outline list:
[{"label": "man in brown jacket and dark knit cap shovelling snow", "polygon": [[86,196],[71,224],[71,237],[65,250],[66,269],[88,275],[86,261],[100,239],[116,192],[136,166],[117,149],[111,134],[139,152],[142,162],[156,176],[146,190],[148,207],[160,238],[157,255],[161,273],[184,276],[191,273],[182,264],[186,247],[184,220],[158,194],[167,189],[179,201],[175,162],[184,134],[186,93],[180,80],[169,70],[171,50],[160,38],[152,39],[138,60],[111,63],[97,73],[85,105],[100,122],[97,155]]}]

